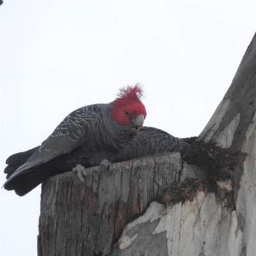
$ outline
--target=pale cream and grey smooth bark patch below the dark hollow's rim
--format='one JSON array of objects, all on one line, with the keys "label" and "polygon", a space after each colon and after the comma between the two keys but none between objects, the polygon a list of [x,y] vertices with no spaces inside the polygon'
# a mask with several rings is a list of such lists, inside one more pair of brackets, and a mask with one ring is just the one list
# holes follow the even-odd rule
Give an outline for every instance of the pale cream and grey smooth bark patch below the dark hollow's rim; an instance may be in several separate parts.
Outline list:
[{"label": "pale cream and grey smooth bark patch below the dark hollow's rim", "polygon": [[[119,247],[110,255],[240,255],[237,227],[236,211],[223,207],[214,193],[198,191],[192,202],[184,204],[152,202],[143,216],[125,227]],[[151,254],[156,240],[159,248]]]}]

